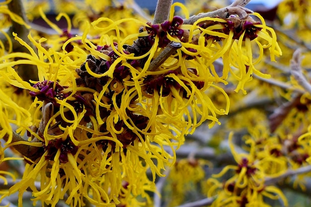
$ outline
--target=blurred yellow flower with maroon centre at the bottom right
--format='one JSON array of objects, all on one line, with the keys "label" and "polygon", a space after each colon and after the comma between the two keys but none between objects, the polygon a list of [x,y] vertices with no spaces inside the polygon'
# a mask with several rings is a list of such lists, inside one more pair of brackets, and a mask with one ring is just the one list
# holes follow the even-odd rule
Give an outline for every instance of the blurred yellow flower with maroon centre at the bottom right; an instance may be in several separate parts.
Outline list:
[{"label": "blurred yellow flower with maroon centre at the bottom right", "polygon": [[[274,186],[265,185],[265,173],[264,166],[270,166],[278,163],[269,156],[263,159],[256,159],[256,149],[253,141],[249,141],[250,152],[249,154],[240,153],[237,154],[232,142],[233,134],[229,137],[229,144],[233,157],[237,162],[237,165],[228,165],[223,170],[212,178],[207,180],[210,190],[208,191],[208,197],[216,196],[213,202],[213,207],[226,207],[226,206],[267,206],[263,200],[263,197],[267,197],[272,200],[281,199],[284,206],[288,206],[286,197],[281,190]],[[234,170],[233,176],[226,179],[224,183],[220,183],[216,178],[223,177],[229,170]],[[279,172],[274,175],[277,176]],[[272,193],[272,194],[271,194]]]}]

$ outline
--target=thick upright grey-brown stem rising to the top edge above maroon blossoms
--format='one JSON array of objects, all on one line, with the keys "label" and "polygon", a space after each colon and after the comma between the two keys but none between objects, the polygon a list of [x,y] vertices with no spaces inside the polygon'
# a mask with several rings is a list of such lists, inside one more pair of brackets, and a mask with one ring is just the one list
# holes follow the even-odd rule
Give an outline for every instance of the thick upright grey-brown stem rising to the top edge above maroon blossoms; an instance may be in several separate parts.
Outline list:
[{"label": "thick upright grey-brown stem rising to the top edge above maroon blossoms", "polygon": [[157,0],[153,24],[162,23],[168,19],[172,3],[173,0]]}]

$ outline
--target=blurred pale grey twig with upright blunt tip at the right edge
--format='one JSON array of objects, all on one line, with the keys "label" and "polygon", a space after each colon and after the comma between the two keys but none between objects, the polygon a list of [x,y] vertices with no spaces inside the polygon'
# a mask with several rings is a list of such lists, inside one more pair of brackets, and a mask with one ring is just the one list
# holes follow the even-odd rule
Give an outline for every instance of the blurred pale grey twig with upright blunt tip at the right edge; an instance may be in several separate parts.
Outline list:
[{"label": "blurred pale grey twig with upright blunt tip at the right edge", "polygon": [[306,89],[307,92],[311,93],[311,84],[306,79],[302,72],[301,68],[301,51],[300,49],[297,49],[294,54],[293,58],[291,60],[291,73],[295,77],[295,79],[298,81],[298,83]]}]

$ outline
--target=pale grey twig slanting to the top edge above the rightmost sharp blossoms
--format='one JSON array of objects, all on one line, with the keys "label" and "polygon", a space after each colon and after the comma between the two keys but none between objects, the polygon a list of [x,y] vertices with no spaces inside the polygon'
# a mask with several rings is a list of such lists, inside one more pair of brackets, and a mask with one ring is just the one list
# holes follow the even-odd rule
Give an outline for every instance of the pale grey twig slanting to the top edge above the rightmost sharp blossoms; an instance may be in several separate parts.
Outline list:
[{"label": "pale grey twig slanting to the top edge above the rightmost sharp blossoms", "polygon": [[191,16],[189,19],[184,19],[184,24],[194,24],[197,20],[204,17],[227,18],[231,14],[237,14],[240,18],[244,18],[248,13],[253,12],[248,8],[244,8],[249,1],[250,0],[235,0],[231,5],[225,8],[220,8],[207,13],[199,13],[198,15]]}]

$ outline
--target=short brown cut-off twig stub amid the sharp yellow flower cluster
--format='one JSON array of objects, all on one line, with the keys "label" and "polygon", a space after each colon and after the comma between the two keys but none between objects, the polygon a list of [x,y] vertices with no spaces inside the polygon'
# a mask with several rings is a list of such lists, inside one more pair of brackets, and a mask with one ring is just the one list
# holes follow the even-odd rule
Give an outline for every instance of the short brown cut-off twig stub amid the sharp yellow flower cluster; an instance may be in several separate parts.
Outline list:
[{"label": "short brown cut-off twig stub amid the sharp yellow flower cluster", "polygon": [[166,61],[177,49],[181,48],[181,43],[170,42],[166,48],[150,63],[149,71],[155,71],[162,63]]}]

